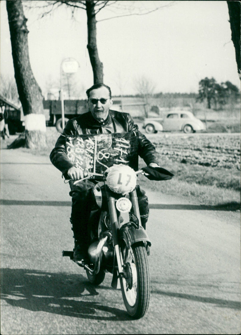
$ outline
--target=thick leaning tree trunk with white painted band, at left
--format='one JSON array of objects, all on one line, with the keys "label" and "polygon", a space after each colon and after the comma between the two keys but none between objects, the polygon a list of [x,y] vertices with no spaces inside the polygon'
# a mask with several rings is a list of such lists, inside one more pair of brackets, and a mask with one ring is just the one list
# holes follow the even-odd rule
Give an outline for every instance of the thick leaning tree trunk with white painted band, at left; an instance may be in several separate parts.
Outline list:
[{"label": "thick leaning tree trunk with white painted band, at left", "polygon": [[15,80],[25,118],[25,146],[46,146],[46,125],[43,97],[30,66],[28,55],[27,19],[21,0],[6,1]]}]

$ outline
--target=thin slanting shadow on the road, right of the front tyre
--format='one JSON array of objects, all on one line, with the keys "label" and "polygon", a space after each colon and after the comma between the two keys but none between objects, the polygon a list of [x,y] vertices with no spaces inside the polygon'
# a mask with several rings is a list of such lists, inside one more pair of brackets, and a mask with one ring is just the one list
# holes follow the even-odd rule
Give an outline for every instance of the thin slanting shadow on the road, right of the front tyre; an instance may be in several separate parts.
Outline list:
[{"label": "thin slanting shadow on the road, right of the front tyre", "polygon": [[224,299],[204,297],[204,296],[193,295],[193,294],[177,293],[177,292],[169,292],[169,291],[161,291],[161,290],[151,290],[151,293],[198,301],[200,303],[215,304],[218,307],[231,308],[235,310],[240,310],[240,306],[241,306],[240,301],[224,300]]}]

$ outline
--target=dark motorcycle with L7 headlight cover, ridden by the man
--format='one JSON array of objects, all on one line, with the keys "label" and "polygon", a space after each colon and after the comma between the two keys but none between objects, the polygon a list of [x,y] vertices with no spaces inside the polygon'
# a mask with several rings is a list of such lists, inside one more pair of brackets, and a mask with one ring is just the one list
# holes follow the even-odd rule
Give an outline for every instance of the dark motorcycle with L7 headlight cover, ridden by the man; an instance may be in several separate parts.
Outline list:
[{"label": "dark motorcycle with L7 headlight cover, ridden by the man", "polygon": [[[121,288],[126,310],[135,319],[147,312],[150,298],[147,254],[151,242],[141,226],[135,189],[139,174],[150,180],[168,180],[173,176],[161,167],[146,166],[135,172],[120,164],[75,182],[98,181],[93,187],[95,207],[88,223],[89,261],[76,263],[95,285],[103,282],[106,272],[113,274],[111,286]],[[71,260],[73,255],[72,251],[63,251],[63,256]]]}]

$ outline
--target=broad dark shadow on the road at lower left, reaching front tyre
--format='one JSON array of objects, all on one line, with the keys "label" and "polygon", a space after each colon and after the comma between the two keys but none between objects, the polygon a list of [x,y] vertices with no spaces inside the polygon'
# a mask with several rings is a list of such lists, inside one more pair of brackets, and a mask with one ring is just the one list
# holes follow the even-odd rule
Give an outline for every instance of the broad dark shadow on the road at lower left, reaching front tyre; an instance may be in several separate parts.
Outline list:
[{"label": "broad dark shadow on the road at lower left, reaching front tyre", "polygon": [[1,299],[11,306],[82,319],[131,320],[124,310],[80,300],[98,294],[80,274],[1,269]]}]

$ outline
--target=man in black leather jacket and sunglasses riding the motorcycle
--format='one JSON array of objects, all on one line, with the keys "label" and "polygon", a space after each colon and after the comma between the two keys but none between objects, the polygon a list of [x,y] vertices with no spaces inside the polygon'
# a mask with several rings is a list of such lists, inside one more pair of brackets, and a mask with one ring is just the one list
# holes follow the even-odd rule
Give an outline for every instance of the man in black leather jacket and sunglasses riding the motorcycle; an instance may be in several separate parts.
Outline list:
[{"label": "man in black leather jacket and sunglasses riding the motorcycle", "polygon": [[[87,259],[87,224],[91,208],[93,206],[91,190],[94,182],[83,180],[74,185],[75,180],[84,178],[83,171],[74,166],[65,152],[66,136],[85,134],[110,134],[124,132],[138,132],[138,154],[145,163],[152,167],[158,167],[157,153],[153,144],[143,135],[138,126],[134,124],[128,113],[110,110],[113,104],[111,89],[105,84],[94,84],[87,91],[89,111],[76,118],[69,120],[59,136],[55,147],[50,153],[52,164],[62,172],[62,177],[70,179],[70,196],[72,196],[72,212],[70,221],[74,232],[75,247],[74,261],[85,261]],[[138,205],[140,208],[141,224],[145,229],[149,215],[148,199],[145,192],[136,187]]]}]

